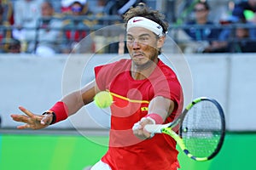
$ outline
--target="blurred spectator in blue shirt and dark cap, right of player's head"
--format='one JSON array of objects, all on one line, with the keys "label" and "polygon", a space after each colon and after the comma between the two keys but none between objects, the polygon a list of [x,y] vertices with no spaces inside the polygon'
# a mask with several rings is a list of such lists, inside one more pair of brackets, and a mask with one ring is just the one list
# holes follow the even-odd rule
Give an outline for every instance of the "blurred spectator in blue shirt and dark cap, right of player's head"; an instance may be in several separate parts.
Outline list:
[{"label": "blurred spectator in blue shirt and dark cap, right of player's head", "polygon": [[[195,3],[194,11],[195,20],[189,21],[186,24],[189,28],[184,29],[188,36],[195,41],[193,46],[189,44],[188,48],[192,48],[189,51],[192,50],[192,52],[197,53],[222,52],[223,45],[218,42],[220,30],[212,28],[216,25],[208,19],[210,7],[207,2]],[[203,28],[200,26],[203,26]]]}]

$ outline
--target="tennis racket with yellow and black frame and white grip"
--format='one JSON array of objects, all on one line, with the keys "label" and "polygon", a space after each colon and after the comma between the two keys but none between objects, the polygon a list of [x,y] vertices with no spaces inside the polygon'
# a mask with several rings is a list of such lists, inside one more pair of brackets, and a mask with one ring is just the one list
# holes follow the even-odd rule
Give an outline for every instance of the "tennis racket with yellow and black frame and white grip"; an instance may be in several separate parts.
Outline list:
[{"label": "tennis racket with yellow and black frame and white grip", "polygon": [[[178,134],[172,129],[178,127]],[[216,156],[224,143],[224,111],[215,99],[194,99],[173,122],[146,125],[149,133],[166,133],[195,161]]]}]

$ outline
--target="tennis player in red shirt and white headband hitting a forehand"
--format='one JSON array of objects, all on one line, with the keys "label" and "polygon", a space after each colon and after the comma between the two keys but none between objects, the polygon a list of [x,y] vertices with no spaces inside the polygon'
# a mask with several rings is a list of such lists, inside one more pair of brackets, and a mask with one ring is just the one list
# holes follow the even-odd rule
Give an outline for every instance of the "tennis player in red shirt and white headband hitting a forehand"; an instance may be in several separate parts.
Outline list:
[{"label": "tennis player in red shirt and white headband hitting a forehand", "polygon": [[44,112],[11,115],[18,128],[39,129],[65,120],[93,101],[103,90],[113,94],[108,152],[91,170],[177,170],[176,142],[166,134],[151,134],[146,124],[172,122],[183,108],[183,90],[174,71],[158,55],[168,24],[144,3],[124,16],[126,45],[131,59],[95,67],[96,80],[68,94]]}]

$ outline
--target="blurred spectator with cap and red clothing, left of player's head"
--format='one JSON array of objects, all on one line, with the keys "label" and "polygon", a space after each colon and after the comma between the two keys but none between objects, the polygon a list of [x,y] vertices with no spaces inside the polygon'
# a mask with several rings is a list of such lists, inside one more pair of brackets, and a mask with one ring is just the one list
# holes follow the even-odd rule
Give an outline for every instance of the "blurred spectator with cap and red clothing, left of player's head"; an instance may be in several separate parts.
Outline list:
[{"label": "blurred spectator with cap and red clothing, left of player's head", "polygon": [[[87,4],[84,4],[87,6]],[[67,20],[63,21],[65,44],[62,45],[61,52],[68,53],[91,53],[94,52],[94,43],[88,37],[83,44],[81,42],[84,37],[90,34],[90,26],[96,24],[96,20],[86,20],[83,16],[90,16],[90,10],[84,10],[84,5],[79,1],[75,1],[70,5],[71,14]],[[88,9],[88,8],[87,8]],[[80,48],[79,48],[80,47]]]}]

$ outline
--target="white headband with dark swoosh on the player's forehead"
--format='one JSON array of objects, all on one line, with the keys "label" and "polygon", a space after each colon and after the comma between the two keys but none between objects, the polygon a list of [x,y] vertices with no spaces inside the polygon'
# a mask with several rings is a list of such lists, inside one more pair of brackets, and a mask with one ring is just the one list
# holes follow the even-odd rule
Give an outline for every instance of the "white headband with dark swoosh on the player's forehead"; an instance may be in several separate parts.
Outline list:
[{"label": "white headband with dark swoosh on the player's forehead", "polygon": [[128,31],[131,27],[135,26],[143,27],[150,31],[153,31],[159,37],[164,36],[162,26],[160,26],[153,20],[149,20],[141,16],[133,17],[130,20],[128,20],[126,31]]}]

